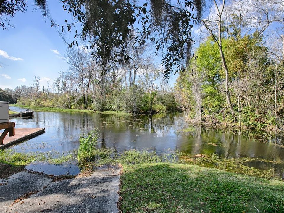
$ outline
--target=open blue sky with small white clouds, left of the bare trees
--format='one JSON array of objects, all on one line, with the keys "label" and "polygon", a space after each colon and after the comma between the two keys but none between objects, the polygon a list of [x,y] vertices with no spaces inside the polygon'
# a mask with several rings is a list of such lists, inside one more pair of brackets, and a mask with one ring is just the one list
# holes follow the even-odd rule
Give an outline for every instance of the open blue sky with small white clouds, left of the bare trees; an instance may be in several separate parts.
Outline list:
[{"label": "open blue sky with small white clouds, left of the bare trees", "polygon": [[[67,46],[30,2],[25,13],[10,19],[15,28],[0,29],[0,88],[31,85],[35,75],[41,77],[41,86],[46,85],[57,78],[61,68],[68,68],[61,58]],[[49,1],[49,10],[58,22],[69,17],[57,0]]]}]

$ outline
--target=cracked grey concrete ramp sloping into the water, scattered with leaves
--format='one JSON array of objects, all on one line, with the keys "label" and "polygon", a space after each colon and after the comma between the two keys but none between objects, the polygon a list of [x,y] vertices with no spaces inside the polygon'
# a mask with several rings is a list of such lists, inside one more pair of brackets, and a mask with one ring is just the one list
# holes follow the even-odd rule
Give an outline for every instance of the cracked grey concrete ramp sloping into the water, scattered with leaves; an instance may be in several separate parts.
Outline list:
[{"label": "cracked grey concrete ramp sloping into the water, scattered with leaves", "polygon": [[[19,172],[0,186],[0,212],[118,212],[118,190],[121,168],[101,167],[88,177],[51,182],[41,174]],[[25,193],[31,195],[12,203]]]}]

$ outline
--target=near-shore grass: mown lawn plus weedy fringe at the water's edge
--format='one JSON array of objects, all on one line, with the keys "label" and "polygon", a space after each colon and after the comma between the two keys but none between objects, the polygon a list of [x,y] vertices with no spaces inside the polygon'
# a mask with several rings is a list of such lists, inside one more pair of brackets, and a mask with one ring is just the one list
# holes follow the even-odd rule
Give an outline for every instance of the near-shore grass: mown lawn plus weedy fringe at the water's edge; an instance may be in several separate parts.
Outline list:
[{"label": "near-shore grass: mown lawn plus weedy fringe at the water's edge", "polygon": [[[60,164],[74,159],[74,154],[53,158],[3,150],[0,167],[4,163],[15,173],[33,161]],[[157,155],[130,150],[118,154],[114,149],[91,149],[81,163],[90,173],[99,165],[122,165],[122,212],[284,212],[283,181],[189,165],[177,156],[176,152]]]}]

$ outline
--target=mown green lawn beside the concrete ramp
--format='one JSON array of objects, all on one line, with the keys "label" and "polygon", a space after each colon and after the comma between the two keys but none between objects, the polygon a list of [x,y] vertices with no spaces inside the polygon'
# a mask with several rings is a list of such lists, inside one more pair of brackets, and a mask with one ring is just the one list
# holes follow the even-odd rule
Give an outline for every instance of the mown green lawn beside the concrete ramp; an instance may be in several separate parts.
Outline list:
[{"label": "mown green lawn beside the concrete ramp", "polygon": [[194,165],[124,165],[123,212],[284,212],[284,182]]}]

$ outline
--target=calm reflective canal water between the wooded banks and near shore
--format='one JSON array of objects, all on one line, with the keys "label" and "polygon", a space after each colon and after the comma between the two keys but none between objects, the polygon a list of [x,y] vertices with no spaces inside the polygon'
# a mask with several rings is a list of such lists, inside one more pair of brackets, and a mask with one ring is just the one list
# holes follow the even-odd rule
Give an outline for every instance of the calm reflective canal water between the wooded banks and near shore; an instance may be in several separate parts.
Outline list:
[{"label": "calm reflective canal water between the wooded banks and near shore", "polygon": [[[10,109],[22,111],[17,107]],[[78,138],[82,131],[98,128],[100,133],[98,146],[115,148],[118,152],[151,148],[157,154],[162,154],[167,149],[178,149],[188,155],[216,153],[223,158],[251,157],[284,162],[284,144],[281,139],[275,142],[262,137],[260,142],[240,133],[192,128],[185,122],[182,113],[133,117],[96,113],[35,112],[32,119],[17,117],[10,121],[16,122],[16,127],[46,128],[44,134],[13,146],[16,151],[68,152],[78,148]],[[190,128],[191,131],[182,131],[186,128]],[[272,167],[261,161],[250,162],[248,166],[265,170]],[[54,167],[62,168],[63,173],[68,171],[73,174],[79,171],[74,165],[28,166],[29,169],[57,174],[58,172],[54,172],[56,170]],[[280,170],[280,176],[284,177],[283,168]]]}]

